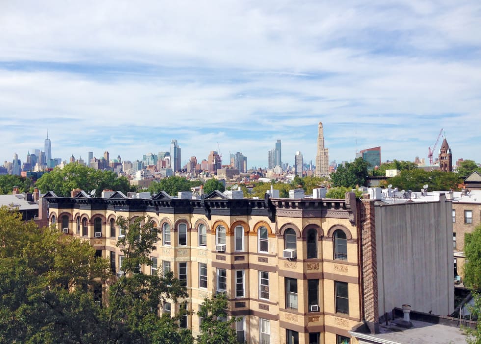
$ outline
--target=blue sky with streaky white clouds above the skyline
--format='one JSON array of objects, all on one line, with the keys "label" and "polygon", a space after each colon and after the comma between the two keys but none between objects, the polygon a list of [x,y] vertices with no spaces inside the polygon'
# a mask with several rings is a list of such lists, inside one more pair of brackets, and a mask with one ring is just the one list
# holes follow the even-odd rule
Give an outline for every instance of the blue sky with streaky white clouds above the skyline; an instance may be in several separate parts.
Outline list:
[{"label": "blue sky with streaky white clouds above the skyline", "polygon": [[[381,146],[481,163],[481,2],[0,1],[0,163]],[[442,140],[442,138],[441,138]],[[438,143],[437,150],[441,145]]]}]

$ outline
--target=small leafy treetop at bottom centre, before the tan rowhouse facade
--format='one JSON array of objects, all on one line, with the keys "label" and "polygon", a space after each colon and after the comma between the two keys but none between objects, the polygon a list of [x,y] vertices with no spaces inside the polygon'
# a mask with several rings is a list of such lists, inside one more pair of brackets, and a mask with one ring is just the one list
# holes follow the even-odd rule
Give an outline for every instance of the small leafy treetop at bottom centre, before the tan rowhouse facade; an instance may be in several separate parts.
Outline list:
[{"label": "small leafy treetop at bottom centre, before the tan rowhouse facade", "polygon": [[228,305],[229,301],[225,294],[204,299],[198,312],[202,323],[200,335],[197,336],[197,344],[238,343],[233,323],[240,321],[240,318],[233,316],[227,320]]}]

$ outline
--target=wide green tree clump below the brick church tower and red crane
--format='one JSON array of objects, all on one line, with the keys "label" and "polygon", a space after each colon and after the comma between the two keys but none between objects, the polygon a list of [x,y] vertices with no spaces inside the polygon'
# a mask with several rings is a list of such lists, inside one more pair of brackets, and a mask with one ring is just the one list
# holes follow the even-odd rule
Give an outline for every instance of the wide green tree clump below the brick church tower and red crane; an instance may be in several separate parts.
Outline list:
[{"label": "wide green tree clump below the brick church tower and red crane", "polygon": [[423,185],[428,184],[428,191],[433,190],[459,190],[461,182],[459,175],[454,172],[439,170],[424,171],[423,169],[403,170],[395,177],[388,178],[381,185],[392,184],[399,190],[419,191]]}]

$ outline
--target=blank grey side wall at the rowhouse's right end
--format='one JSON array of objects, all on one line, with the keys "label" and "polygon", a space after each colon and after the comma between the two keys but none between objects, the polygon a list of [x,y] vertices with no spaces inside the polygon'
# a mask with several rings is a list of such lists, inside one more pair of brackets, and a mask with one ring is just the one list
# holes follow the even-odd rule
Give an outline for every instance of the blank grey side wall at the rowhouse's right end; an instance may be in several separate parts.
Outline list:
[{"label": "blank grey side wall at the rowhouse's right end", "polygon": [[454,311],[451,201],[375,207],[379,315]]}]

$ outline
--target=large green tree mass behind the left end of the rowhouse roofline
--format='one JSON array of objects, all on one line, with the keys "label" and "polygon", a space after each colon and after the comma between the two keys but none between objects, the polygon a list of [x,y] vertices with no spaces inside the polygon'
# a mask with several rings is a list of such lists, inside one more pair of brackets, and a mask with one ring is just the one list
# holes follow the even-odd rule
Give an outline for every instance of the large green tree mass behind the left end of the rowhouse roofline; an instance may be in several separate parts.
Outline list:
[{"label": "large green tree mass behind the left end of the rowhouse roofline", "polygon": [[63,169],[55,167],[53,171],[45,173],[37,180],[36,186],[41,192],[53,191],[57,196],[69,197],[73,189],[89,192],[96,190],[99,197],[104,189],[115,191],[134,191],[126,177],[118,177],[112,171],[95,170],[79,163],[70,163]]}]

